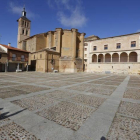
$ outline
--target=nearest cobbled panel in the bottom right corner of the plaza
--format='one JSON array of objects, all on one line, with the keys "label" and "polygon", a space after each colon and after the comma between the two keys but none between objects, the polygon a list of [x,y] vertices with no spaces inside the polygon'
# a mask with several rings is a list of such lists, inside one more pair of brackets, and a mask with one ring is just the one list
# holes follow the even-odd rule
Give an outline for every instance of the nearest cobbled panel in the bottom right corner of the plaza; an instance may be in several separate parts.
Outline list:
[{"label": "nearest cobbled panel in the bottom right corner of the plaza", "polygon": [[107,136],[108,140],[139,140],[140,121],[116,116]]}]

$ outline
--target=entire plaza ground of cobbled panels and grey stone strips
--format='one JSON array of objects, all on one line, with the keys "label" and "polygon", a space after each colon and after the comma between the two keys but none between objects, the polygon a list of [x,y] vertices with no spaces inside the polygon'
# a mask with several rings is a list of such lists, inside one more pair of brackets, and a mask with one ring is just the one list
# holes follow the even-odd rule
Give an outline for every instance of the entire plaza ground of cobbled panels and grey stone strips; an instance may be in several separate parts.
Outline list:
[{"label": "entire plaza ground of cobbled panels and grey stone strips", "polygon": [[0,73],[0,139],[140,140],[140,76]]}]

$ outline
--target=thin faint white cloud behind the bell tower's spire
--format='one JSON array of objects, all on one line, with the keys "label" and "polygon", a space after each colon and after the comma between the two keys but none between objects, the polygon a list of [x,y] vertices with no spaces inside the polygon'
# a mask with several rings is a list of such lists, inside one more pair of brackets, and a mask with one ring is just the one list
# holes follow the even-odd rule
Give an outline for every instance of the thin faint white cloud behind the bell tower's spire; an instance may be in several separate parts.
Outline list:
[{"label": "thin faint white cloud behind the bell tower's spire", "polygon": [[[23,11],[23,6],[19,6],[19,5],[16,5],[15,3],[13,3],[13,2],[10,2],[9,7],[10,7],[10,11],[12,11],[13,14],[22,15],[21,13]],[[27,17],[28,18],[38,17],[37,14],[34,14],[30,10],[27,9],[26,11],[27,11]]]}]

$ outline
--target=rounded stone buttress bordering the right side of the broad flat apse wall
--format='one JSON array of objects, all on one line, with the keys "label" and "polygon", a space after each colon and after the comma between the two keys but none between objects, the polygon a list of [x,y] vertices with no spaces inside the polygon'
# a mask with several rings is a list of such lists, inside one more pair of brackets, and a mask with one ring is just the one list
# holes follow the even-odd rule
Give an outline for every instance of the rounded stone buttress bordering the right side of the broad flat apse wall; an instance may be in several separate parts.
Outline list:
[{"label": "rounded stone buttress bordering the right side of the broad flat apse wall", "polygon": [[72,57],[76,58],[76,36],[77,29],[72,29]]}]

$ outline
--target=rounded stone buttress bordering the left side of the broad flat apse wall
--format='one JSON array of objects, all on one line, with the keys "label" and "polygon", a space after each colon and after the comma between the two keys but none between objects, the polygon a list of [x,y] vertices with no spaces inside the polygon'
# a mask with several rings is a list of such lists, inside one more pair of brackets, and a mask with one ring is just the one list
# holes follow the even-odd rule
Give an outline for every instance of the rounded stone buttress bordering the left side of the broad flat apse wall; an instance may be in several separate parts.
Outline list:
[{"label": "rounded stone buttress bordering the left side of the broad flat apse wall", "polygon": [[57,46],[56,46],[56,51],[61,52],[61,42],[62,42],[62,29],[61,28],[56,28],[56,39],[57,39]]}]

